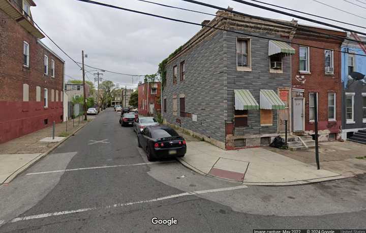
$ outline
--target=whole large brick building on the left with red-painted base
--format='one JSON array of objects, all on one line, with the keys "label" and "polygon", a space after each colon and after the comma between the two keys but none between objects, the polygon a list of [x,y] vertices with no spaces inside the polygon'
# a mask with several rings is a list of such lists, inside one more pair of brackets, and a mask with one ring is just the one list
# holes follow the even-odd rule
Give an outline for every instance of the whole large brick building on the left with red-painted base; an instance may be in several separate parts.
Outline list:
[{"label": "whole large brick building on the left with red-painted base", "polygon": [[0,1],[0,142],[63,121],[65,62],[40,41],[34,6]]}]

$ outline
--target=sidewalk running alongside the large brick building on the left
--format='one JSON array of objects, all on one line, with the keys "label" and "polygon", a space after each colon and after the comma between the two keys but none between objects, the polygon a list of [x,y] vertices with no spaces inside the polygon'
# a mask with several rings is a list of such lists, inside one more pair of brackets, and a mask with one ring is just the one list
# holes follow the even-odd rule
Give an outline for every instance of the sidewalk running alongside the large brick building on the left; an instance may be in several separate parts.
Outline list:
[{"label": "sidewalk running alongside the large brick building on the left", "polygon": [[[88,120],[93,119],[94,117],[88,116]],[[52,140],[52,126],[50,126],[0,144],[0,184],[9,183],[18,174],[42,159],[87,123],[82,121],[82,118],[80,118],[79,123],[79,119],[76,118],[74,119],[74,126],[72,120],[68,123],[56,124],[55,139],[57,137],[60,140]],[[42,140],[46,137],[51,137],[51,140]]]}]

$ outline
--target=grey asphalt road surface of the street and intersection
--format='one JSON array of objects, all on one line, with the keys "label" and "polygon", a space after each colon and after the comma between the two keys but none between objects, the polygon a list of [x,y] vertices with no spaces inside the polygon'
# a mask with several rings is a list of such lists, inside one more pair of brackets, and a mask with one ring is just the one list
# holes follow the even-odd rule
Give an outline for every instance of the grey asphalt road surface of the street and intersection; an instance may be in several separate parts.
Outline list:
[{"label": "grey asphalt road surface of the street and intersection", "polygon": [[[0,232],[253,232],[366,228],[366,177],[289,187],[240,186],[177,161],[150,164],[107,109],[0,187]],[[65,170],[66,169],[66,170]],[[171,226],[151,218],[177,220]]]}]

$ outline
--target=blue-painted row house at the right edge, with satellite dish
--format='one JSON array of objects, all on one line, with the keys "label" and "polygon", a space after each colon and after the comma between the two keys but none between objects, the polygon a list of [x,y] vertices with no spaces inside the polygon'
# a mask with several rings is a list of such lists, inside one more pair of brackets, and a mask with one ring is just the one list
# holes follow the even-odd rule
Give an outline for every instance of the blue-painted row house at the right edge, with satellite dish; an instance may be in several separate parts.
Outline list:
[{"label": "blue-painted row house at the right edge, with satellite dish", "polygon": [[[365,36],[348,37],[366,42]],[[342,51],[342,138],[366,143],[366,134],[358,132],[366,130],[366,45],[345,41]]]}]

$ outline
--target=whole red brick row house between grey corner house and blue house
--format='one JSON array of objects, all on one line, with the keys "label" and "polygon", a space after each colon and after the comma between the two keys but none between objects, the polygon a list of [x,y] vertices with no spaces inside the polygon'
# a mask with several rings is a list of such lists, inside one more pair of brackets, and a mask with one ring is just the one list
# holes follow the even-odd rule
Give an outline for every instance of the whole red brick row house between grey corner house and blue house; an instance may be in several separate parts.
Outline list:
[{"label": "whole red brick row house between grey corner house and blue house", "polygon": [[[328,35],[330,38],[314,30]],[[334,140],[342,126],[341,45],[345,32],[298,25],[292,42],[292,130],[297,134],[314,134],[314,95],[318,99],[319,140]],[[320,47],[327,50],[312,48]]]}]

